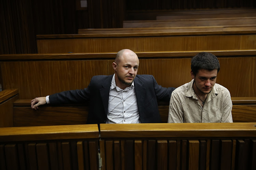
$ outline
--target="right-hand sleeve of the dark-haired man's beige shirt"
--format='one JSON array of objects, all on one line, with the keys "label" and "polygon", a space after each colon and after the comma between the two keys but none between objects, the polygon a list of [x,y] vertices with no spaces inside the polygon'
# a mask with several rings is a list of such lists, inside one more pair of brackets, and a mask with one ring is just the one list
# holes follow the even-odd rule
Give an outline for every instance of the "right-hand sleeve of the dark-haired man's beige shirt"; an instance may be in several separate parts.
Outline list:
[{"label": "right-hand sleeve of the dark-haired man's beige shirt", "polygon": [[223,101],[221,123],[233,122],[231,110],[232,110],[232,101],[230,97],[230,92],[228,91],[228,89],[226,89],[226,93]]}]

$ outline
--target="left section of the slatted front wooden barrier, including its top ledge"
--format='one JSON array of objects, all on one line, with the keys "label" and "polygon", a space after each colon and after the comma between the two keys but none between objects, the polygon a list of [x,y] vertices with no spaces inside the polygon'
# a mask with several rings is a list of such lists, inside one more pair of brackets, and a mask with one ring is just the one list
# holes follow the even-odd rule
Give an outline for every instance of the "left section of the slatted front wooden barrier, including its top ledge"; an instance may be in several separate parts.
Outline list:
[{"label": "left section of the slatted front wooden barrier, including its top ledge", "polygon": [[0,128],[0,169],[98,170],[97,124]]}]

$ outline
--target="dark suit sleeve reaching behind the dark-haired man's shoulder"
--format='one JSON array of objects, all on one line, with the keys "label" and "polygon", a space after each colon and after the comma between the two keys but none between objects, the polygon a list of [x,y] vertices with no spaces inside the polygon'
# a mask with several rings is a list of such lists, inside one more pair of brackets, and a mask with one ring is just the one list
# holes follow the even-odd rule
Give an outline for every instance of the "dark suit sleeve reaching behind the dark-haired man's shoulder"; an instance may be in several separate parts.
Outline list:
[{"label": "dark suit sleeve reaching behind the dark-haired man's shoulder", "polygon": [[151,76],[152,76],[152,79],[154,82],[154,89],[155,89],[157,100],[169,102],[170,98],[171,98],[171,94],[172,94],[173,90],[175,90],[175,88],[174,87],[168,87],[168,88],[162,87],[157,84],[153,75],[151,75]]}]

